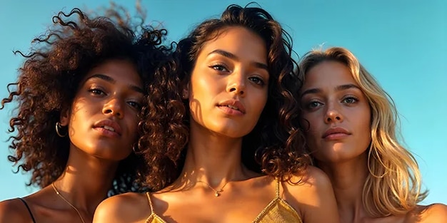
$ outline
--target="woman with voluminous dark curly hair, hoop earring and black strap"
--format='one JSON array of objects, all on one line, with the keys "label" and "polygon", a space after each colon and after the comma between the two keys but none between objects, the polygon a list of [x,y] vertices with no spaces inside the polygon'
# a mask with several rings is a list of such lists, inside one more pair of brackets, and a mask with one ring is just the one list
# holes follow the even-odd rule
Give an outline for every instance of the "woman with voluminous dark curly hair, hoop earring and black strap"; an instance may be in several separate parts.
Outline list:
[{"label": "woman with voluminous dark curly hair, hoop earring and black strap", "polygon": [[1,202],[0,222],[91,222],[106,197],[144,190],[144,160],[132,149],[147,88],[170,52],[165,30],[121,12],[59,12],[29,55],[18,52],[26,61],[1,102],[18,104],[9,160],[42,189]]}]

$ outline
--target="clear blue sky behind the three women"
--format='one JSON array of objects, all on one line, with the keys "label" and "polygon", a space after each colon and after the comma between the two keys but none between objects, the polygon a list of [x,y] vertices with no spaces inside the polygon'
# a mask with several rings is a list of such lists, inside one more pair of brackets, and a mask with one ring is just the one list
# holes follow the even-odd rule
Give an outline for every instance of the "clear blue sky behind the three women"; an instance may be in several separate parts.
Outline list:
[{"label": "clear blue sky behind the three women", "polygon": [[[134,9],[135,1],[116,1]],[[186,3],[188,2],[188,3]],[[219,16],[228,4],[249,1],[142,0],[148,19],[160,21],[177,41],[204,19]],[[416,155],[425,204],[447,204],[447,1],[258,1],[283,24],[302,56],[311,48],[344,46],[358,56],[395,100],[402,135]],[[32,38],[45,31],[51,16],[73,7],[96,9],[109,1],[0,1],[0,96],[16,80],[23,62],[13,50],[28,51]],[[9,107],[11,108],[11,107]],[[10,110],[0,111],[0,200],[34,192],[29,176],[13,174],[6,134]]]}]

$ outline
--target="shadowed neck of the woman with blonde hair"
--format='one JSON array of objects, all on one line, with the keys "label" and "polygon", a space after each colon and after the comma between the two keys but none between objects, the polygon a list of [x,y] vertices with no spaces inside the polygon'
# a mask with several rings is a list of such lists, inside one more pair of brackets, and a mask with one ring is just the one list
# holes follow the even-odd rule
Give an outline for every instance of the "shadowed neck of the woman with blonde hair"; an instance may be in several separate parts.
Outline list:
[{"label": "shadowed neck of the woman with blonde hair", "polygon": [[367,163],[366,152],[354,160],[318,162],[318,167],[331,179],[341,222],[357,222],[368,216],[363,206],[363,185],[368,176]]}]

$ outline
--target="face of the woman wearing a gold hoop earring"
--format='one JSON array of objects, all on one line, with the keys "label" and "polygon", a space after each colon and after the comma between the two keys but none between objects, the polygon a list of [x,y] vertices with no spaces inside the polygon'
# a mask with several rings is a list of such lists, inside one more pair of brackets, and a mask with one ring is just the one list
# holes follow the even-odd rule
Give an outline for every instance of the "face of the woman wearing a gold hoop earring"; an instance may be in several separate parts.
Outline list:
[{"label": "face of the woman wearing a gold hoop earring", "polygon": [[105,160],[123,160],[138,137],[139,110],[144,98],[141,78],[133,63],[110,60],[86,74],[69,114],[71,149]]}]

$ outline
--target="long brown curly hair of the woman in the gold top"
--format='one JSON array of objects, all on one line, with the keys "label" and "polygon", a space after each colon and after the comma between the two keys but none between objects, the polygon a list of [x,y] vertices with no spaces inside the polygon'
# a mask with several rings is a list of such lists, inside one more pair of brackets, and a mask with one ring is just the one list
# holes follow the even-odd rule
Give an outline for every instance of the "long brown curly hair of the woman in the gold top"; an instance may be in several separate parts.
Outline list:
[{"label": "long brown curly hair of the woman in the gold top", "polygon": [[[268,100],[256,127],[243,138],[243,164],[256,172],[290,180],[310,163],[303,134],[297,128],[299,107],[296,101],[296,62],[292,58],[291,37],[267,11],[258,7],[228,6],[220,19],[199,24],[189,36],[179,41],[173,59],[166,66],[166,78],[151,90],[153,95],[144,110],[144,148],[146,182],[154,189],[176,180],[184,165],[189,140],[189,104],[181,99],[181,87],[189,82],[201,48],[219,36],[224,28],[241,26],[261,36],[268,51]],[[261,139],[259,139],[261,138]]]}]

